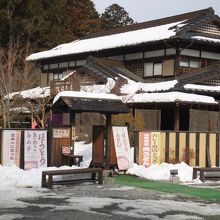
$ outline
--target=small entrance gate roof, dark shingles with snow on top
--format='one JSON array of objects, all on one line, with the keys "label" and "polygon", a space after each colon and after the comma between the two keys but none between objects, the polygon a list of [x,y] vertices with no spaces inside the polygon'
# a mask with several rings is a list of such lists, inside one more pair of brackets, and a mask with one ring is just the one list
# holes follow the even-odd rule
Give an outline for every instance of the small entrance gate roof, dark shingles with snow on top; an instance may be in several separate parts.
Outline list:
[{"label": "small entrance gate roof, dark shingles with snow on top", "polygon": [[86,92],[61,92],[53,102],[53,109],[63,106],[74,112],[97,112],[102,114],[128,113],[129,108],[122,103],[116,95],[86,93]]}]

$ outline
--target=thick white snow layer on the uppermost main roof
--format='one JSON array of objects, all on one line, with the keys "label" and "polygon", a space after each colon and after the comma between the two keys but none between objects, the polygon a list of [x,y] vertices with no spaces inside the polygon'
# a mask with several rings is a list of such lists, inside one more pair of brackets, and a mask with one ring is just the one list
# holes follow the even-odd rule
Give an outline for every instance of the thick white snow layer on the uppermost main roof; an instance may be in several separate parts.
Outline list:
[{"label": "thick white snow layer on the uppermost main roof", "polygon": [[[183,21],[181,21],[183,22]],[[39,60],[62,55],[94,52],[109,48],[132,46],[140,43],[168,39],[175,35],[175,29],[170,29],[181,22],[160,25],[125,33],[107,35],[102,37],[77,40],[71,43],[61,44],[51,50],[31,54],[27,60]]]}]

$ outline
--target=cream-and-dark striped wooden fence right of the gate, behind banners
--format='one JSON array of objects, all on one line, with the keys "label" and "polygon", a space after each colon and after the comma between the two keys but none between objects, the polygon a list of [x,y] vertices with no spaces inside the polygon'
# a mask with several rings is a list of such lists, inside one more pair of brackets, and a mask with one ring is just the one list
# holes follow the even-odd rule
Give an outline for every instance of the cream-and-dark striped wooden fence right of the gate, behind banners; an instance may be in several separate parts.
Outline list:
[{"label": "cream-and-dark striped wooden fence right of the gate, behind banners", "polygon": [[[135,146],[139,146],[139,132],[135,131]],[[149,132],[149,131],[146,131]],[[160,162],[185,161],[191,166],[219,166],[220,133],[156,131],[160,134]],[[139,146],[140,147],[140,146]],[[136,161],[139,162],[138,147]]]}]

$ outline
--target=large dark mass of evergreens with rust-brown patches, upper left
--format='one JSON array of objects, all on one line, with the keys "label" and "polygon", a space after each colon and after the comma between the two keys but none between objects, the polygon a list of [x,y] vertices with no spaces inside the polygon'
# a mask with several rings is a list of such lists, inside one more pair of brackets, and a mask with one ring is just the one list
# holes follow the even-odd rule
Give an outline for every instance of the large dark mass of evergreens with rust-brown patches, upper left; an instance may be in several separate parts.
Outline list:
[{"label": "large dark mass of evergreens with rust-brown patches, upper left", "polygon": [[100,29],[91,0],[1,0],[0,47],[19,39],[49,49]]}]

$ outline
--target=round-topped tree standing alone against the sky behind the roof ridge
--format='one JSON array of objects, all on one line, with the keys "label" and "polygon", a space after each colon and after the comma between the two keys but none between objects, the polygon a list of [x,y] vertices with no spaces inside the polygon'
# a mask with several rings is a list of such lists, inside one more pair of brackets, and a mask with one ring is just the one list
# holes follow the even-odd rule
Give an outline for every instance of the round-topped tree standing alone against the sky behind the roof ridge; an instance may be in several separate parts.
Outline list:
[{"label": "round-topped tree standing alone against the sky behind the roof ridge", "polygon": [[112,4],[105,9],[101,15],[101,29],[108,30],[116,27],[123,27],[125,25],[133,24],[134,21],[129,17],[125,9],[118,4]]}]

